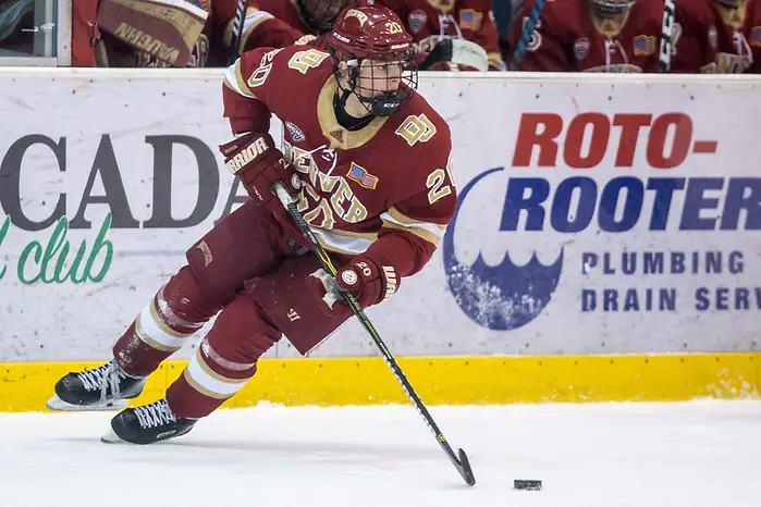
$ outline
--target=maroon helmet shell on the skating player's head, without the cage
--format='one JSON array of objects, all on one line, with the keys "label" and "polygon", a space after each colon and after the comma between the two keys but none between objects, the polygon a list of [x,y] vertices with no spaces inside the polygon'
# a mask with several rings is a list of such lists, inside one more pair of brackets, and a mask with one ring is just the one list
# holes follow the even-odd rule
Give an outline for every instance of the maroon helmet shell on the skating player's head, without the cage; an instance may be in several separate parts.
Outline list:
[{"label": "maroon helmet shell on the skating player's head, without the cage", "polygon": [[413,49],[413,37],[393,11],[368,5],[345,10],[328,35],[328,44],[339,54],[395,57]]}]

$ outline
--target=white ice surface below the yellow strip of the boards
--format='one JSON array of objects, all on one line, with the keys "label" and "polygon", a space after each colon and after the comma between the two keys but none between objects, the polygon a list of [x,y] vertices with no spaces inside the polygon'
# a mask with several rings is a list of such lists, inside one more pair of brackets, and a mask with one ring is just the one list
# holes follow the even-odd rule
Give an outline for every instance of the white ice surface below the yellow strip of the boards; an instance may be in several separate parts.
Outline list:
[{"label": "white ice surface below the yellow strip of the boards", "polygon": [[[0,416],[0,505],[740,507],[761,505],[761,401],[220,410],[154,446],[112,413]],[[541,479],[543,491],[513,491]]]}]

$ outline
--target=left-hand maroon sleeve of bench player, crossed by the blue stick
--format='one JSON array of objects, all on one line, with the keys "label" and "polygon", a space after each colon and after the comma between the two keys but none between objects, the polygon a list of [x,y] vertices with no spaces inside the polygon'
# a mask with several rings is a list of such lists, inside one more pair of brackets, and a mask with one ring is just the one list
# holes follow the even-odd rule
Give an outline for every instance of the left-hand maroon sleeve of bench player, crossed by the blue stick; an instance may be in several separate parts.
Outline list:
[{"label": "left-hand maroon sleeve of bench player, crossed by the blue stick", "polygon": [[[530,72],[566,72],[569,70],[566,58],[566,44],[563,40],[565,29],[563,26],[554,26],[557,16],[553,15],[553,10],[557,9],[561,2],[548,2],[537,22],[531,34],[526,52],[518,62],[518,69]],[[518,41],[523,37],[524,26],[531,15],[532,1],[527,1],[520,14],[515,16],[510,30],[510,47],[515,51]]]}]

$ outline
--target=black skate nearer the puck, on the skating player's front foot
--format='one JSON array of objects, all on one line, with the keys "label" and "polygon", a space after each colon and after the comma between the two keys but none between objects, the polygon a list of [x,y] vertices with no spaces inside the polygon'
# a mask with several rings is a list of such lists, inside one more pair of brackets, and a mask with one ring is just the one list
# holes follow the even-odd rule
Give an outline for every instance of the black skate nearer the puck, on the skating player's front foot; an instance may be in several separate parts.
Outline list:
[{"label": "black skate nearer the puck, on the skating player's front foot", "polygon": [[193,430],[198,419],[177,417],[161,398],[150,405],[127,408],[111,419],[111,430],[100,440],[107,444],[152,444],[182,436]]}]

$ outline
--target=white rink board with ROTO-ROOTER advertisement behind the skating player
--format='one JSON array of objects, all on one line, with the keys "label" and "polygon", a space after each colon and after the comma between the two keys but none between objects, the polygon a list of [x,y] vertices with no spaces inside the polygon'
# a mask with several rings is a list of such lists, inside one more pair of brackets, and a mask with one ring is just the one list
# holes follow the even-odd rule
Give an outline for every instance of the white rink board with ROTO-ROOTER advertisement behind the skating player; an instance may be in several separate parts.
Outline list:
[{"label": "white rink board with ROTO-ROOTER advertisement behind the skating player", "polygon": [[[60,71],[0,73],[0,362],[108,358],[245,199],[217,149],[221,73]],[[459,203],[369,311],[394,354],[757,350],[756,82],[439,74],[420,91],[451,125]],[[375,355],[355,322],[312,353]]]}]

